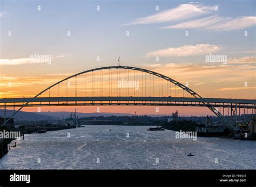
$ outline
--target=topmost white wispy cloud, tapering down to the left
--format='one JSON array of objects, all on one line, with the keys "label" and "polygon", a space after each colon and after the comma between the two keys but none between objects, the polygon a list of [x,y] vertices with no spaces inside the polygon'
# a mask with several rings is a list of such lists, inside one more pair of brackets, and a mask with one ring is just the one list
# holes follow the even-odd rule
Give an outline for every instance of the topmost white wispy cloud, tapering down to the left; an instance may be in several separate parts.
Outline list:
[{"label": "topmost white wispy cloud, tapering down to the left", "polygon": [[151,16],[138,18],[135,19],[132,23],[125,25],[163,23],[166,21],[174,21],[206,15],[212,11],[214,11],[214,6],[204,6],[202,4],[181,4],[177,8],[165,10]]}]

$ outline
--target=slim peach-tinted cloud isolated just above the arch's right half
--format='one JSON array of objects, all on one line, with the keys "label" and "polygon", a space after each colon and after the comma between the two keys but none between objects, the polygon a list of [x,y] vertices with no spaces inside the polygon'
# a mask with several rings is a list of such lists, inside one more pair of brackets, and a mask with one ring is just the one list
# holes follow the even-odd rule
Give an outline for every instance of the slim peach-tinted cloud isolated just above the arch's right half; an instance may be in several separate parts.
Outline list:
[{"label": "slim peach-tinted cloud isolated just above the arch's right half", "polygon": [[221,46],[210,44],[197,44],[197,45],[185,45],[177,48],[165,48],[158,51],[153,51],[146,54],[146,57],[151,56],[195,56],[209,54],[219,51]]}]

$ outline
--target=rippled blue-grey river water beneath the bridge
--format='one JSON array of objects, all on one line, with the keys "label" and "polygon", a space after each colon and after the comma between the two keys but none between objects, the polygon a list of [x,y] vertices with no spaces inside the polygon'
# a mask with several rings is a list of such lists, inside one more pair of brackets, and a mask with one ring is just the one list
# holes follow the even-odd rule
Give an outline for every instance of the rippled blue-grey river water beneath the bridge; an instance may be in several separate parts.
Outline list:
[{"label": "rippled blue-grey river water beneath the bridge", "polygon": [[85,125],[25,134],[0,169],[256,169],[256,141],[176,139],[174,131],[147,128]]}]

